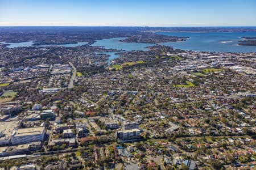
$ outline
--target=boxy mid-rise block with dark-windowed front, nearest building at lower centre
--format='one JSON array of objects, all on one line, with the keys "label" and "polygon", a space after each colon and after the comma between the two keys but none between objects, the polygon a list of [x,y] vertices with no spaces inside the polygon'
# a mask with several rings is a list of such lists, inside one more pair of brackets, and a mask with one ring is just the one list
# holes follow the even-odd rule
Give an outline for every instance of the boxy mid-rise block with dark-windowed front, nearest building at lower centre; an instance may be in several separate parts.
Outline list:
[{"label": "boxy mid-rise block with dark-windowed front, nearest building at lower centre", "polygon": [[117,131],[117,138],[120,141],[135,141],[141,138],[141,130],[131,129]]}]

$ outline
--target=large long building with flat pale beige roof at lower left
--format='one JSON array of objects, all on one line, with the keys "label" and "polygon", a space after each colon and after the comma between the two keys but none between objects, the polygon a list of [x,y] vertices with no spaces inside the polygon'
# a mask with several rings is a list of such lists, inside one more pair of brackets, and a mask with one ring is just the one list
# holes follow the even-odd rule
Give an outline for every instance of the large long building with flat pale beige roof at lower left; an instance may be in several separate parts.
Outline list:
[{"label": "large long building with flat pale beige roof at lower left", "polygon": [[37,141],[43,142],[45,134],[46,129],[44,127],[14,130],[11,134],[11,143],[13,145],[19,145],[23,143],[31,143]]}]

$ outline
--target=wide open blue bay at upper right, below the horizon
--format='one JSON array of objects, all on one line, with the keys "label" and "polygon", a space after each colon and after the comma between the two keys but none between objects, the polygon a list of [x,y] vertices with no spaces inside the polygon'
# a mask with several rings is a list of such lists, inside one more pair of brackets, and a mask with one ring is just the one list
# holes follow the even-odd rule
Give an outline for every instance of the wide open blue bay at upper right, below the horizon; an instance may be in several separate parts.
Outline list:
[{"label": "wide open blue bay at upper right, below the horizon", "polygon": [[256,32],[156,32],[160,35],[189,37],[181,42],[164,42],[174,49],[205,52],[256,52],[256,46],[237,45],[242,37],[256,37]]}]

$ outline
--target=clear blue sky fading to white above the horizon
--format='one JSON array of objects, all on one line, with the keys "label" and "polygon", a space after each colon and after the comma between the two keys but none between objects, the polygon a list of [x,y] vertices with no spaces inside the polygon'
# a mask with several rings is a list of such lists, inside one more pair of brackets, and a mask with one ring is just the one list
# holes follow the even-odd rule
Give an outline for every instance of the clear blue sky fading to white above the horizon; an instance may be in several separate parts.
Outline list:
[{"label": "clear blue sky fading to white above the horizon", "polygon": [[0,26],[256,26],[256,0],[0,0]]}]

